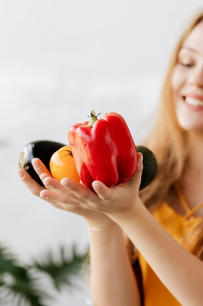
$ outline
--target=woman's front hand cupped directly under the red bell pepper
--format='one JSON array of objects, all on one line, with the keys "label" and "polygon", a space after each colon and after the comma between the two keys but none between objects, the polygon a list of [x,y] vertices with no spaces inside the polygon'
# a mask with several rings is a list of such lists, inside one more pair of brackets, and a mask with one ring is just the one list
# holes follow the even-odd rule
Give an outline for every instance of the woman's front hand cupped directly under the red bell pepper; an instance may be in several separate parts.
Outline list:
[{"label": "woman's front hand cupped directly under the red bell pepper", "polygon": [[[77,197],[77,205],[81,207],[104,213],[113,220],[116,220],[122,214],[128,215],[132,209],[134,211],[136,204],[140,202],[138,192],[143,170],[143,155],[142,153],[137,154],[138,166],[136,174],[124,184],[108,188],[100,181],[93,181],[92,187],[94,192],[83,184],[66,177],[60,182],[65,187],[62,189],[64,190],[63,193],[57,189],[45,189],[40,192],[40,197],[65,203],[71,197],[71,191],[73,197]],[[43,183],[45,185],[47,183],[55,185],[55,179],[53,177],[46,177]]]}]

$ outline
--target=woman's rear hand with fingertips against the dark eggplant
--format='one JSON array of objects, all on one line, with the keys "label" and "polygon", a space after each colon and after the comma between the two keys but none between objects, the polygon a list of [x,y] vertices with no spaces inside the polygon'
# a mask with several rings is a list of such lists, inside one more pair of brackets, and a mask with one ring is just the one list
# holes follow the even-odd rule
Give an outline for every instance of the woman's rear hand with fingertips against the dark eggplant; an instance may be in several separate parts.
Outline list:
[{"label": "woman's rear hand with fingertips against the dark eggplant", "polygon": [[112,224],[115,224],[114,221],[112,221],[105,214],[81,207],[79,203],[77,205],[77,197],[74,197],[71,191],[67,190],[67,188],[63,187],[58,180],[53,178],[51,173],[39,158],[34,158],[32,160],[32,165],[45,187],[40,186],[25,169],[18,169],[18,175],[33,195],[39,197],[40,192],[44,189],[55,191],[59,193],[57,198],[60,198],[60,201],[46,198],[43,199],[51,203],[56,208],[64,209],[84,217],[88,225],[91,227],[96,227],[102,230],[110,227]]}]

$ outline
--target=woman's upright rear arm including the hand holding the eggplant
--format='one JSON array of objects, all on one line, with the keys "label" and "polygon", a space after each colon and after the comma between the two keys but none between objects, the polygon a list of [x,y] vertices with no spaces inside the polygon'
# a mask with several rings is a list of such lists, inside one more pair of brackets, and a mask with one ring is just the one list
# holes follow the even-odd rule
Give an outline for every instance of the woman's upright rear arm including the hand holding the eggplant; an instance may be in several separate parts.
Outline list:
[{"label": "woman's upright rear arm including the hand holding the eggplant", "polygon": [[[83,199],[74,196],[59,181],[51,177],[40,160],[35,159],[35,161],[34,168],[47,189],[39,186],[25,170],[20,169],[19,174],[28,189],[36,196],[41,193],[46,201],[57,208],[84,217],[88,223],[94,304],[96,306],[140,306],[137,283],[120,226],[105,214],[90,210],[84,207],[85,205],[82,206],[81,204],[85,203]],[[80,187],[85,192],[92,193],[85,186]],[[101,231],[93,231],[94,226],[99,227]]]}]

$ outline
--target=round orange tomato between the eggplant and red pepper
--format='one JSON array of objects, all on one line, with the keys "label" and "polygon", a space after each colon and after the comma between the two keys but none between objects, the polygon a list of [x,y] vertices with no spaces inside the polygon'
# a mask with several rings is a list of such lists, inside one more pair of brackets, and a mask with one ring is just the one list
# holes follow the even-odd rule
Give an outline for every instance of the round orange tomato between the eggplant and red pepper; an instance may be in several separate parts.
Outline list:
[{"label": "round orange tomato between the eggplant and red pepper", "polygon": [[69,177],[76,182],[80,181],[70,146],[62,147],[52,155],[50,159],[50,171],[52,176],[57,180]]}]

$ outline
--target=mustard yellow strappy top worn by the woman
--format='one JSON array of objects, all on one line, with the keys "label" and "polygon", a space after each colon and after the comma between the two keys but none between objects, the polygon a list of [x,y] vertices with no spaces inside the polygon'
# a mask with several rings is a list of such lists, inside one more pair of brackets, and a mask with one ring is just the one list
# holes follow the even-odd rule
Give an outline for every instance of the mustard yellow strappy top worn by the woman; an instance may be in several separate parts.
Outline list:
[{"label": "mustard yellow strappy top worn by the woman", "polygon": [[[194,243],[194,233],[187,237],[192,230],[203,220],[201,217],[194,217],[193,214],[203,207],[203,203],[190,210],[181,191],[177,190],[182,205],[185,208],[185,215],[176,213],[166,202],[162,202],[152,213],[155,219],[166,229],[166,231],[188,251]],[[185,239],[186,238],[186,239]],[[166,289],[148,263],[138,255],[143,277],[144,305],[145,306],[181,306],[181,304]]]}]

